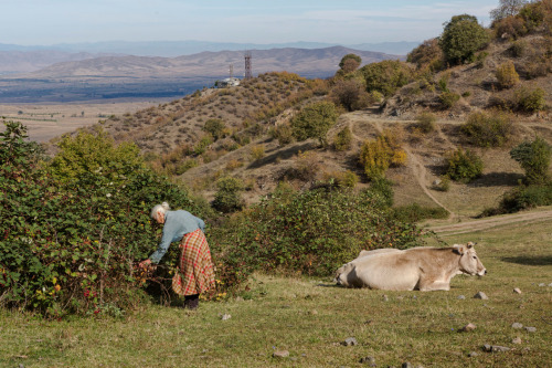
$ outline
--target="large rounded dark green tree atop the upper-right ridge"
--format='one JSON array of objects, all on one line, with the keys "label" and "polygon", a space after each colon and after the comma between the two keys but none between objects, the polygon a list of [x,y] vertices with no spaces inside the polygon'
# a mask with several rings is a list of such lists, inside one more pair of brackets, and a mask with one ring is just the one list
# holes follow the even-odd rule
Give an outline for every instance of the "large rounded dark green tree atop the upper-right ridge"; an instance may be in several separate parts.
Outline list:
[{"label": "large rounded dark green tree atop the upper-right ridge", "polygon": [[455,15],[444,25],[439,46],[450,64],[473,61],[476,51],[481,50],[489,40],[474,15]]}]

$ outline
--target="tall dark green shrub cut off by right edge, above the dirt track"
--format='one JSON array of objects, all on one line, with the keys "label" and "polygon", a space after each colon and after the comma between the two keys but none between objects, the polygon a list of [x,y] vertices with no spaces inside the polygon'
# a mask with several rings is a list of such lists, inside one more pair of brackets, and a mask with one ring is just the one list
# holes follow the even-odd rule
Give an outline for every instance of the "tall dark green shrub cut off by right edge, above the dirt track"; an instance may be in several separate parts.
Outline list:
[{"label": "tall dark green shrub cut off by right edge, above the dirt track", "polygon": [[510,150],[510,157],[526,170],[528,185],[543,185],[550,181],[550,156],[552,147],[542,138],[523,141]]}]

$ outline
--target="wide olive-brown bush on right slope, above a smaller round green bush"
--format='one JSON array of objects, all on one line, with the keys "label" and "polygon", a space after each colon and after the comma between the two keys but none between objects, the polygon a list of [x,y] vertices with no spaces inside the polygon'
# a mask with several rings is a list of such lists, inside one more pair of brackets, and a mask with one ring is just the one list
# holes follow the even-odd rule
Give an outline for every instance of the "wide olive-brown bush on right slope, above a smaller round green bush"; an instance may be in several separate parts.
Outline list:
[{"label": "wide olive-brown bush on right slope, above a smaller round green bush", "polygon": [[501,147],[513,134],[513,120],[501,112],[476,112],[468,116],[460,130],[476,146]]}]

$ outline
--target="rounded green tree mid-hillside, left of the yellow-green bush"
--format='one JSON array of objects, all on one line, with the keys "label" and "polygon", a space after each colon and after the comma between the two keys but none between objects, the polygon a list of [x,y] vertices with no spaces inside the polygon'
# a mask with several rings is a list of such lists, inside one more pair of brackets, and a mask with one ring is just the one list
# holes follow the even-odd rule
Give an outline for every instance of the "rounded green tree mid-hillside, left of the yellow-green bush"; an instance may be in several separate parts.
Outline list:
[{"label": "rounded green tree mid-hillside, left of the yellow-green bush", "polygon": [[331,102],[322,101],[310,104],[291,119],[294,137],[299,141],[315,138],[320,145],[326,146],[326,135],[338,117],[336,105]]}]

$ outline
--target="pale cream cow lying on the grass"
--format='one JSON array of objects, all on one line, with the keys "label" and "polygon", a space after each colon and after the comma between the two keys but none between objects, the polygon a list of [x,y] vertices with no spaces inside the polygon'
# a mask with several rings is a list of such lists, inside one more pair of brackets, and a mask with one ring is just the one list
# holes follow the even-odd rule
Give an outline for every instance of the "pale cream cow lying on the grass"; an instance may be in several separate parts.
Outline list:
[{"label": "pale cream cow lying on the grass", "polygon": [[448,248],[362,251],[357,259],[336,272],[335,281],[346,287],[449,291],[450,280],[460,273],[478,276],[487,274],[473,242]]}]

